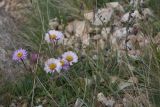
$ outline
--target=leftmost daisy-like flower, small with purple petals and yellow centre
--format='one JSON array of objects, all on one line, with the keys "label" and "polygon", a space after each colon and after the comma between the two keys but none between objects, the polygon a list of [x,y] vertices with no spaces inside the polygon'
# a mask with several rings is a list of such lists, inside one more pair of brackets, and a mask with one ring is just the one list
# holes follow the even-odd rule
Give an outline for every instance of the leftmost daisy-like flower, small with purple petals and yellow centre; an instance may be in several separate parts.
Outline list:
[{"label": "leftmost daisy-like flower, small with purple petals and yellow centre", "polygon": [[25,60],[27,58],[27,51],[24,49],[18,49],[14,51],[12,59],[15,61]]}]

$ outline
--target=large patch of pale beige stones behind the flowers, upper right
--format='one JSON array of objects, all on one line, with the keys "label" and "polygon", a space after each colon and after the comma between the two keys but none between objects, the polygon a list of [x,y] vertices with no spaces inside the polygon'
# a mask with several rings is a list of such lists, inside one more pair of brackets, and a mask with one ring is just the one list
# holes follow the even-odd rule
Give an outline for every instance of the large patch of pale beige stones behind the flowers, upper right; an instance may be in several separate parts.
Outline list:
[{"label": "large patch of pale beige stones behind the flowers, upper right", "polygon": [[[141,5],[144,3],[142,2]],[[132,2],[130,3],[132,5]],[[150,39],[150,35],[142,32],[141,22],[150,21],[154,17],[151,9],[138,5],[125,12],[127,6],[118,2],[107,3],[105,8],[84,12],[84,20],[73,19],[64,28],[64,45],[77,50],[88,46],[103,50],[110,47],[123,55],[126,51],[132,58],[143,55],[144,47],[154,41],[157,44],[158,34]],[[50,20],[51,29],[63,30],[57,19]]]}]

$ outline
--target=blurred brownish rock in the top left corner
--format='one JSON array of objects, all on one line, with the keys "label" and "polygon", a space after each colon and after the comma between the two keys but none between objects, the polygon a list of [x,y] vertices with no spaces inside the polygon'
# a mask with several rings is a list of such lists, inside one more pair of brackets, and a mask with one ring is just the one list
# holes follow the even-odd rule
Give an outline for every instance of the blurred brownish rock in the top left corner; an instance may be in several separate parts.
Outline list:
[{"label": "blurred brownish rock in the top left corner", "polygon": [[[33,12],[33,5],[28,0],[1,0],[5,2],[3,9],[12,17],[17,25],[21,25],[23,22],[28,21],[26,15],[30,15]],[[0,2],[1,2],[0,1]]]}]

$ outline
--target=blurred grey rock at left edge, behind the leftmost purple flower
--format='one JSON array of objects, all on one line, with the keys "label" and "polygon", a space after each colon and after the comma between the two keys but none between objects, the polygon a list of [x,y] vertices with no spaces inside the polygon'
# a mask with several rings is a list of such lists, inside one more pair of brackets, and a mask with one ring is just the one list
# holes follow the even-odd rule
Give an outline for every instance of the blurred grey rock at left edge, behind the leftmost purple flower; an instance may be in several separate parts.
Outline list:
[{"label": "blurred grey rock at left edge, behind the leftmost purple flower", "polygon": [[[14,21],[4,9],[0,9],[0,74],[5,81],[15,80],[22,69],[21,64],[17,64],[12,60],[12,54],[15,48],[18,47],[23,40],[16,36],[16,29]],[[22,76],[21,76],[22,77]],[[2,84],[0,84],[2,85]]]}]

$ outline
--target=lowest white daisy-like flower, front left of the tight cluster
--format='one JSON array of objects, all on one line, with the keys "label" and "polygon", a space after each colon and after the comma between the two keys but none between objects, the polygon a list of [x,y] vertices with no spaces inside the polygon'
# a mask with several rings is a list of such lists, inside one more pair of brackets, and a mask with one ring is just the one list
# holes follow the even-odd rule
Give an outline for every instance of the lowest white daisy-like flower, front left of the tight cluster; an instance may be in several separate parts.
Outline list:
[{"label": "lowest white daisy-like flower, front left of the tight cluster", "polygon": [[50,58],[45,62],[44,70],[47,73],[54,73],[55,71],[60,72],[61,63],[58,59]]}]

